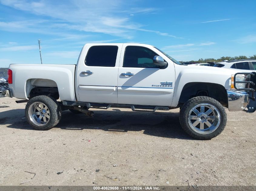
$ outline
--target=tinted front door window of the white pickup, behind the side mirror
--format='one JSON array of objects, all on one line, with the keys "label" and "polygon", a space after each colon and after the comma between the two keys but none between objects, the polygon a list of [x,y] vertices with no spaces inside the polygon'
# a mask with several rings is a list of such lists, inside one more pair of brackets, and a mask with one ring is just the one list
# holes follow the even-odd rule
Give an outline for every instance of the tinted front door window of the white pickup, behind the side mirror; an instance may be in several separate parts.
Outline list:
[{"label": "tinted front door window of the white pickup, behind the side mirror", "polygon": [[133,68],[159,68],[153,63],[154,56],[158,56],[152,50],[142,46],[127,46],[125,49],[123,67]]}]

